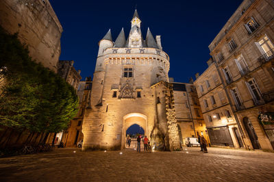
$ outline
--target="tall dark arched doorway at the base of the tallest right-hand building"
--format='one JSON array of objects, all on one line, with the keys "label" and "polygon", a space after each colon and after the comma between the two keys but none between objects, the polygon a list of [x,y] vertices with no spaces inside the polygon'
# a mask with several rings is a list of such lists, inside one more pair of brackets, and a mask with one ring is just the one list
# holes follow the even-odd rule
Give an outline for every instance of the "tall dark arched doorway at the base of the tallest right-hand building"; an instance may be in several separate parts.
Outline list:
[{"label": "tall dark arched doorway at the base of the tallest right-hand building", "polygon": [[251,120],[249,118],[245,117],[243,118],[243,122],[245,125],[245,129],[247,131],[247,134],[249,135],[249,139],[251,141],[251,144],[254,149],[260,149],[260,144],[258,142],[258,136],[256,134],[256,131],[251,123]]}]

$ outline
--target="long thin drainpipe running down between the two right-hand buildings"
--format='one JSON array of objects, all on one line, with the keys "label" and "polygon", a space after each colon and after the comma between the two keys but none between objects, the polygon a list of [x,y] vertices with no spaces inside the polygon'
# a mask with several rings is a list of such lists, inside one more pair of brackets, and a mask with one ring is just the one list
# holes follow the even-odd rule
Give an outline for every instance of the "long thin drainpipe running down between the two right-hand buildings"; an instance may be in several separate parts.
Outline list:
[{"label": "long thin drainpipe running down between the two right-hand buildings", "polygon": [[[212,58],[213,58],[213,60],[214,60],[214,57],[212,57]],[[225,87],[225,81],[223,81],[223,77],[221,76],[221,73],[220,73],[220,70],[219,70],[219,66],[218,66],[218,64],[216,63],[215,60],[214,60],[214,64],[215,64],[215,66],[216,66],[216,70],[217,70],[217,72],[218,72],[218,75],[219,75],[219,77],[220,77],[220,79],[221,79],[223,88],[224,88],[224,90],[225,90],[225,94],[227,95],[227,99],[228,99],[228,101],[229,101],[229,105],[230,105],[230,107],[232,108],[232,112],[233,112],[234,118],[235,118],[236,123],[237,123],[237,125],[238,125],[238,128],[239,128],[239,130],[240,130],[240,134],[241,134],[241,137],[242,137],[242,143],[244,144],[245,148],[248,150],[249,148],[247,148],[247,144],[245,144],[245,140],[243,140],[243,138],[245,138],[245,135],[244,135],[244,132],[242,131],[242,127],[240,126],[240,121],[238,120],[238,116],[237,116],[236,112],[234,111],[234,107],[233,107],[233,105],[232,105],[232,101],[231,101],[231,99],[230,99],[230,97],[229,97],[227,88]],[[240,144],[239,144],[239,145],[240,145]]]}]

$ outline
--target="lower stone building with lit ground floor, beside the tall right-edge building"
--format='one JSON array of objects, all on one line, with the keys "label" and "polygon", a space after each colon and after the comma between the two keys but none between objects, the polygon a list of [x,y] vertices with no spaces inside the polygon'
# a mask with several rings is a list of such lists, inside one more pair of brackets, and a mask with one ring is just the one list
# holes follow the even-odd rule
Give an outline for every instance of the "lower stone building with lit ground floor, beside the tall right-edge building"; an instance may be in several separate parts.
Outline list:
[{"label": "lower stone building with lit ground floor, beside the tall right-edge building", "polygon": [[244,147],[236,118],[214,61],[208,60],[208,68],[196,77],[194,85],[197,88],[203,118],[206,120],[210,144]]}]

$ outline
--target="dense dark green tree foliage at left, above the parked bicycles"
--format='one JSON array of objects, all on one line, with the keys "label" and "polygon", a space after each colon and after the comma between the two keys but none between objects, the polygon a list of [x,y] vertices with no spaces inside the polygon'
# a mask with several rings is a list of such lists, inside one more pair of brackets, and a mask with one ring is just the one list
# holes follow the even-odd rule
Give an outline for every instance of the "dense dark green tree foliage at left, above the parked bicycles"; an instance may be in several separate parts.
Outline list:
[{"label": "dense dark green tree foliage at left, above the parked bicycles", "polygon": [[17,35],[0,27],[0,125],[58,132],[68,127],[77,106],[75,89],[32,61]]}]

